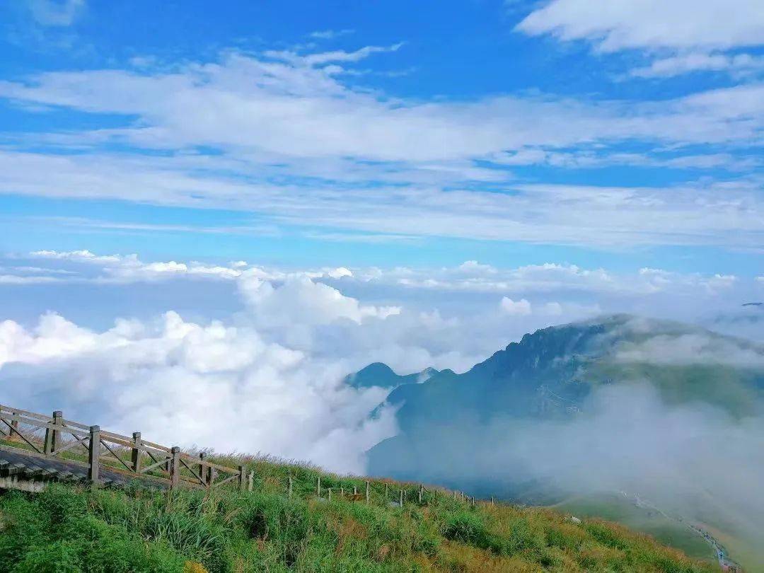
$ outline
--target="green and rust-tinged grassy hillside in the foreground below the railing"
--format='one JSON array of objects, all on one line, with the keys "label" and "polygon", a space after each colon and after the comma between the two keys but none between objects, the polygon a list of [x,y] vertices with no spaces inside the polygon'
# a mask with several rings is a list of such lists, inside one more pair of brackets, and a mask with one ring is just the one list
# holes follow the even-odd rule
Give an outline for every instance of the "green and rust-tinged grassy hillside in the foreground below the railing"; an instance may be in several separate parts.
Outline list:
[{"label": "green and rust-tinged grassy hillside in the foreground below the railing", "polygon": [[[579,524],[548,509],[472,505],[445,490],[426,491],[420,504],[416,484],[384,481],[374,481],[367,504],[348,495],[364,491],[362,479],[248,463],[257,475],[252,493],[63,484],[42,494],[6,492],[0,562],[6,571],[57,573],[717,570],[601,520]],[[406,501],[394,507],[402,487]]]}]

